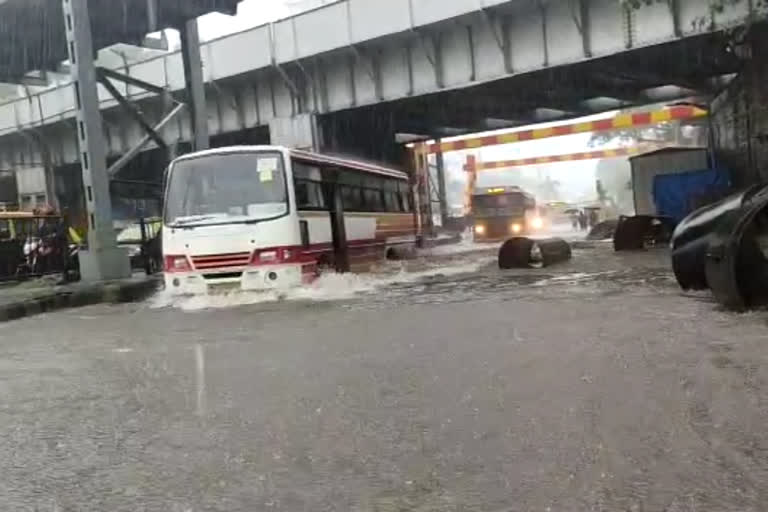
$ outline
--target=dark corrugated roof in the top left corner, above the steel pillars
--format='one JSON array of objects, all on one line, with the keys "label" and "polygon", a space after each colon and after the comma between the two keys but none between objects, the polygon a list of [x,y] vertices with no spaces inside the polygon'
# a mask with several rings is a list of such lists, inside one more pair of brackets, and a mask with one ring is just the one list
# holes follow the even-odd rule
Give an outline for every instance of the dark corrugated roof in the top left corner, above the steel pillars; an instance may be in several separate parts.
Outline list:
[{"label": "dark corrugated roof in the top left corner, above the steel pillars", "polygon": [[[157,0],[156,29],[209,12],[235,14],[240,0]],[[94,48],[139,45],[153,30],[147,0],[89,0]],[[0,82],[55,70],[68,58],[61,0],[0,0]]]}]

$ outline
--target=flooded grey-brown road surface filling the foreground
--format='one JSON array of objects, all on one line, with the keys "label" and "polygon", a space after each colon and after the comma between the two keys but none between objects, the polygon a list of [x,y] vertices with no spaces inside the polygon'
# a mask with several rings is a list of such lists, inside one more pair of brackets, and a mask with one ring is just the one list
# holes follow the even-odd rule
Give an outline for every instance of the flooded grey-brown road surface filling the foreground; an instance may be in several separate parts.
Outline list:
[{"label": "flooded grey-brown road surface filling the foreground", "polygon": [[0,324],[0,510],[764,510],[768,316],[580,247]]}]

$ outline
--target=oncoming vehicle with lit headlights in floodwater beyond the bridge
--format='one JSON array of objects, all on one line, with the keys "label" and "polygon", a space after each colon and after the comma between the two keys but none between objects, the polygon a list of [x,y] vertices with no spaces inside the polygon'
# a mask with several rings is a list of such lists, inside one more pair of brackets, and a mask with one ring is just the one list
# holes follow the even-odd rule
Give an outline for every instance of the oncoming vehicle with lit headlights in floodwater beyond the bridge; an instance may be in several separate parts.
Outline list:
[{"label": "oncoming vehicle with lit headlights in floodwater beyond the bridge", "polygon": [[485,187],[472,194],[475,241],[498,241],[545,228],[536,199],[520,187]]}]

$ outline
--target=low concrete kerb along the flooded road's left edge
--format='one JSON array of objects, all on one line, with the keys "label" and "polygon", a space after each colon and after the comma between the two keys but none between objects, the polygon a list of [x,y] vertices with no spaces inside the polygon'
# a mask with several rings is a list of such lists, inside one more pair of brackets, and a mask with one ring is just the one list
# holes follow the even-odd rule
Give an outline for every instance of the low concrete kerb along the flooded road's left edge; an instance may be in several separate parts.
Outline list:
[{"label": "low concrete kerb along the flooded road's left edge", "polygon": [[0,305],[0,322],[93,304],[137,302],[147,298],[162,283],[157,277],[117,282],[78,284],[71,288],[41,292],[39,296]]}]

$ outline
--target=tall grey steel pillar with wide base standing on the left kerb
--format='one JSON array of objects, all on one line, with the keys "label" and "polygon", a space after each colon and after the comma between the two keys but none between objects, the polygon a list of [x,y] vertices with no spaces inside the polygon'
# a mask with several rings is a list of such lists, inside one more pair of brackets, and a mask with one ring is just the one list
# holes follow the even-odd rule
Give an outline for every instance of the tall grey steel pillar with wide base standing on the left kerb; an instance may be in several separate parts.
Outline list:
[{"label": "tall grey steel pillar with wide base standing on the left kerb", "polygon": [[120,279],[128,277],[131,269],[127,254],[117,247],[112,224],[88,0],[62,0],[62,7],[72,64],[77,139],[88,212],[88,250],[80,253],[80,273],[86,281]]}]

